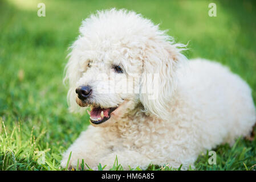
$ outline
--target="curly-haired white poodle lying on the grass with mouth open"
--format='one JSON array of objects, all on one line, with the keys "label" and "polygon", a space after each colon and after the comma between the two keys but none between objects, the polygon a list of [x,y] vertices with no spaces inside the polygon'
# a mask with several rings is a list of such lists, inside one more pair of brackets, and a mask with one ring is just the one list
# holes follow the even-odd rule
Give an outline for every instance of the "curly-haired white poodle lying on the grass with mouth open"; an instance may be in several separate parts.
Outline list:
[{"label": "curly-haired white poodle lying on the grass with mouth open", "polygon": [[[184,44],[132,11],[98,11],[83,21],[66,79],[71,111],[90,106],[92,125],[61,166],[187,169],[201,152],[233,144],[256,122],[251,89],[219,63],[187,60]],[[79,105],[79,106],[78,106]],[[87,122],[87,121],[84,121]]]}]

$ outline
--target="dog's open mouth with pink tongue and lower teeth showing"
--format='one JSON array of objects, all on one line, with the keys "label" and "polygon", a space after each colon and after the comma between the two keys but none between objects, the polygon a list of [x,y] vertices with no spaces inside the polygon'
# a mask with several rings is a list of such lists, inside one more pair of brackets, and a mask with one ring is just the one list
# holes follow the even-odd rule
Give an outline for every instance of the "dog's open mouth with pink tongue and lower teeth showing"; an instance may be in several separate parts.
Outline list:
[{"label": "dog's open mouth with pink tongue and lower teeth showing", "polygon": [[107,121],[110,118],[110,114],[117,108],[117,107],[109,107],[109,108],[101,108],[101,107],[91,107],[91,111],[88,111],[90,115],[90,120],[95,125],[99,125]]}]

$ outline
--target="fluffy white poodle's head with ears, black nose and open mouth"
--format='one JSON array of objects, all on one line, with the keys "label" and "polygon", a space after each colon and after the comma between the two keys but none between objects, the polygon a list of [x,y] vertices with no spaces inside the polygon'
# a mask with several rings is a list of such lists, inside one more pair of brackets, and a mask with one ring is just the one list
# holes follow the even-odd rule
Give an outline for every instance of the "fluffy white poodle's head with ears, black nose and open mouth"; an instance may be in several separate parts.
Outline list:
[{"label": "fluffy white poodle's head with ears, black nose and open mouth", "polygon": [[66,66],[70,110],[91,106],[90,120],[97,126],[118,121],[138,105],[168,119],[176,69],[185,60],[182,47],[132,11],[91,15],[80,27]]}]

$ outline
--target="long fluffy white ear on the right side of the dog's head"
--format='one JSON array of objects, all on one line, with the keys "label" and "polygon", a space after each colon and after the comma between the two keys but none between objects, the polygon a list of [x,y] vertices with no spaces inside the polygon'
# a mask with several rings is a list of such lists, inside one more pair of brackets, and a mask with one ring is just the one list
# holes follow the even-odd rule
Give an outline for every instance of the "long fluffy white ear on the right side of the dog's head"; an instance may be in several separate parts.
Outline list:
[{"label": "long fluffy white ear on the right side of the dog's head", "polygon": [[[158,44],[158,45],[157,45]],[[161,119],[169,119],[169,105],[177,83],[177,69],[186,57],[183,44],[169,41],[147,46],[143,57],[140,101],[145,110]]]}]

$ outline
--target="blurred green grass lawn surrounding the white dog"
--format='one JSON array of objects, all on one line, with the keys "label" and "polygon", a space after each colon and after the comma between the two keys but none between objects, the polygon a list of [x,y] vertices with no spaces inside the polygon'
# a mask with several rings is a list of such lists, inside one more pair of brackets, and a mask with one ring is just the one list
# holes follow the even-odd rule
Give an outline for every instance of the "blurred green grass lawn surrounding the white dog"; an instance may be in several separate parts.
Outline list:
[{"label": "blurred green grass lawn surrounding the white dog", "polygon": [[[45,3],[46,17],[37,16],[38,2]],[[64,170],[62,152],[89,125],[88,115],[67,110],[62,84],[67,48],[78,36],[82,19],[95,10],[135,10],[160,23],[177,42],[189,42],[189,58],[228,65],[249,83],[256,101],[255,3],[214,2],[217,17],[208,16],[210,1],[0,0],[0,170]],[[255,139],[241,138],[233,147],[224,144],[215,151],[217,165],[208,164],[209,156],[202,154],[195,170],[256,169]],[[43,153],[45,164],[40,163]],[[118,160],[112,169],[122,169]]]}]

